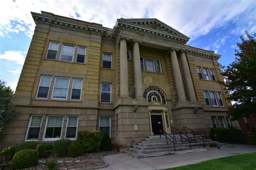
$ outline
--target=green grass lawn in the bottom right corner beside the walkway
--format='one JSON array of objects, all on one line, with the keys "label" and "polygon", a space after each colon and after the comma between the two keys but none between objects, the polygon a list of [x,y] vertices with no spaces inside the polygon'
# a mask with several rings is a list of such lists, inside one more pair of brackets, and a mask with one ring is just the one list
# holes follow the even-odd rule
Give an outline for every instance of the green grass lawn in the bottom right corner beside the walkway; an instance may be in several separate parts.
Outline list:
[{"label": "green grass lawn in the bottom right corner beside the walkway", "polygon": [[234,155],[225,158],[212,159],[198,164],[180,166],[170,168],[172,170],[185,170],[185,169],[256,169],[256,152]]}]

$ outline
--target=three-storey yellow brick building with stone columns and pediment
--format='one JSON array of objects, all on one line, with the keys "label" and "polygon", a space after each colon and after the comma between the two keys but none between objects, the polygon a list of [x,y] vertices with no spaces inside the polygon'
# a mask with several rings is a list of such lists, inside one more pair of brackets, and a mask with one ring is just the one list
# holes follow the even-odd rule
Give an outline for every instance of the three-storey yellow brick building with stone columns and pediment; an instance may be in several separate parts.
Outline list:
[{"label": "three-storey yellow brick building with stone columns and pediment", "polygon": [[1,147],[109,133],[122,150],[183,126],[200,134],[239,126],[228,117],[219,54],[154,18],[113,28],[32,12],[36,27],[12,102],[18,115]]}]

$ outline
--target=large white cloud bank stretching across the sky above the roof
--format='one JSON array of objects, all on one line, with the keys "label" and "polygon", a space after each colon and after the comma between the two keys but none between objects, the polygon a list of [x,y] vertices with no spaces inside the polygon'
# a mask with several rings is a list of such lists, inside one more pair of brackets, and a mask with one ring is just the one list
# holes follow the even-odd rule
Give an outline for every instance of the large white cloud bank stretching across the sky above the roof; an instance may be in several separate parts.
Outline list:
[{"label": "large white cloud bank stretching across the sky above the roof", "polygon": [[0,36],[22,31],[31,37],[35,24],[30,11],[42,10],[111,28],[122,15],[158,18],[194,39],[225,26],[242,12],[253,16],[253,10],[248,9],[254,5],[254,1],[3,1],[0,6]]}]

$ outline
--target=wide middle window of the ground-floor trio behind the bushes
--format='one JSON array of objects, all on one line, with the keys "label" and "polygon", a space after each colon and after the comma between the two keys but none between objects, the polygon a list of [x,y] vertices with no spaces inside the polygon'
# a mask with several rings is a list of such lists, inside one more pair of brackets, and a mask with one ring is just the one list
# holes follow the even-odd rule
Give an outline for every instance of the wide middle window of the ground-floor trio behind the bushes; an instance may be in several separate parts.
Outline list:
[{"label": "wide middle window of the ground-floor trio behind the bushes", "polygon": [[63,116],[48,116],[45,126],[45,140],[58,140],[62,134]]}]

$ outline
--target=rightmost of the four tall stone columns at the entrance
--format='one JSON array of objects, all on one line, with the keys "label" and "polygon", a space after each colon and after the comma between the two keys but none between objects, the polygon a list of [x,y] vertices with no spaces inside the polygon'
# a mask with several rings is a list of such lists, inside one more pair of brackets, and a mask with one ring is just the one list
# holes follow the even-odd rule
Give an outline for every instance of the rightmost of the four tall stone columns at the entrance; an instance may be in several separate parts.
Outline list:
[{"label": "rightmost of the four tall stone columns at the entrance", "polygon": [[194,92],[194,86],[193,86],[193,82],[190,74],[190,68],[188,67],[185,52],[181,51],[180,59],[181,59],[181,65],[182,65],[183,73],[185,77],[188,98],[190,101],[197,101],[196,93]]}]

